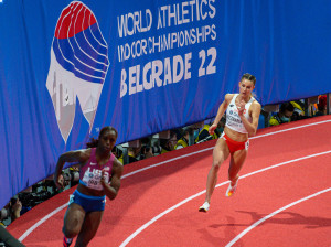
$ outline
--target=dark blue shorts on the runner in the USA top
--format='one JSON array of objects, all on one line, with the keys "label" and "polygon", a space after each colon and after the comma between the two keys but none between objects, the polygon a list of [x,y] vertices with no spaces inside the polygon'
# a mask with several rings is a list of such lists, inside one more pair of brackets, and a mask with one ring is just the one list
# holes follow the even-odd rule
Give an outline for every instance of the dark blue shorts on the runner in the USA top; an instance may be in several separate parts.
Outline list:
[{"label": "dark blue shorts on the runner in the USA top", "polygon": [[70,196],[70,204],[76,203],[83,207],[83,210],[88,212],[104,211],[106,204],[106,195],[104,196],[92,196],[84,195],[77,190]]}]

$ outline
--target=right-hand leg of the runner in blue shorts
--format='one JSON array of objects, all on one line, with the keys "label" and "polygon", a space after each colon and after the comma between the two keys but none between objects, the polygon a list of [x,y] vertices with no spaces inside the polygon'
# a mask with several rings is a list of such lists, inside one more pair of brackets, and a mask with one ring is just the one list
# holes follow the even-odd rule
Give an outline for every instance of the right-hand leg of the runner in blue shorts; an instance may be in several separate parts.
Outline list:
[{"label": "right-hand leg of the runner in blue shorts", "polygon": [[89,212],[85,215],[85,221],[83,223],[82,230],[76,240],[76,247],[87,246],[90,239],[95,236],[102,218],[104,211]]}]

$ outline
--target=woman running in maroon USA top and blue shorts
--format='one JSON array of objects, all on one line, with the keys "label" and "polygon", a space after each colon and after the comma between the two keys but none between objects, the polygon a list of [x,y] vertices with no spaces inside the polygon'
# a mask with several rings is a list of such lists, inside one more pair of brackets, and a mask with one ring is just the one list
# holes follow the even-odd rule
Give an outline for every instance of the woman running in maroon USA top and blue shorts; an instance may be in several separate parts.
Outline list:
[{"label": "woman running in maroon USA top and blue shorts", "polygon": [[79,184],[71,195],[64,216],[63,246],[70,246],[78,235],[75,246],[87,246],[100,224],[106,195],[114,200],[120,186],[122,164],[111,150],[117,139],[117,130],[105,127],[98,139],[92,139],[87,149],[63,153],[57,161],[54,182],[63,187],[62,168],[65,162],[79,162]]}]

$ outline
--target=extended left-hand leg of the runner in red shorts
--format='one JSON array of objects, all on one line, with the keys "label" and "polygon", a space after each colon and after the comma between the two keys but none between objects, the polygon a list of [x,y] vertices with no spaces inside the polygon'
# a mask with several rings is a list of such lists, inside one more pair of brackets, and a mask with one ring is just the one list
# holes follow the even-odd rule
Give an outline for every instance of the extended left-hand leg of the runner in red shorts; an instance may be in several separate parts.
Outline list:
[{"label": "extended left-hand leg of the runner in red shorts", "polygon": [[211,203],[211,197],[217,183],[217,172],[221,164],[229,154],[228,147],[223,138],[220,138],[213,151],[213,164],[207,175],[205,202]]}]

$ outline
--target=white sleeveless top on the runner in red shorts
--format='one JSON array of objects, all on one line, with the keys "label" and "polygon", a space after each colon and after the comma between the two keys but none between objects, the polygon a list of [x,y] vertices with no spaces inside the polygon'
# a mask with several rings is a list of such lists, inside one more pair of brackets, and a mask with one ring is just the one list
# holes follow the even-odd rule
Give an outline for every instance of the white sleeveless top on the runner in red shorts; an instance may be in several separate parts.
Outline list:
[{"label": "white sleeveless top on the runner in red shorts", "polygon": [[[237,132],[241,133],[248,133],[248,131],[246,130],[239,115],[238,115],[238,108],[235,104],[236,98],[237,98],[238,94],[235,94],[229,103],[229,105],[227,106],[226,109],[226,124],[225,126],[232,130],[235,130]],[[252,103],[255,100],[254,97],[250,98],[250,100],[248,103],[246,103],[245,105],[245,110],[244,110],[244,117],[252,122],[252,117],[248,115],[248,110],[249,107],[252,105]]]}]

